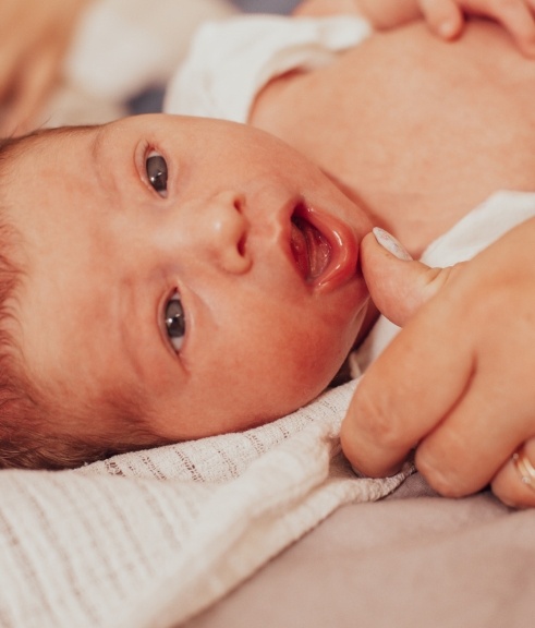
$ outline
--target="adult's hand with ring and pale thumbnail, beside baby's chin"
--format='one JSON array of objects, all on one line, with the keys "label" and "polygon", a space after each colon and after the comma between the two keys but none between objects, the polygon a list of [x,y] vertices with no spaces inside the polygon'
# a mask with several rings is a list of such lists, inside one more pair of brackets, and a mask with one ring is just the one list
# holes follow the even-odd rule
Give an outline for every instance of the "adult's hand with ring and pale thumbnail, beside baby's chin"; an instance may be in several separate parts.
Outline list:
[{"label": "adult's hand with ring and pale thumbnail, beside baby's chin", "polygon": [[[535,219],[445,270],[400,261],[373,235],[362,265],[374,301],[404,326],[364,375],[342,425],[360,471],[417,469],[446,496],[490,484],[506,504],[535,506]],[[535,470],[534,470],[535,472]]]}]

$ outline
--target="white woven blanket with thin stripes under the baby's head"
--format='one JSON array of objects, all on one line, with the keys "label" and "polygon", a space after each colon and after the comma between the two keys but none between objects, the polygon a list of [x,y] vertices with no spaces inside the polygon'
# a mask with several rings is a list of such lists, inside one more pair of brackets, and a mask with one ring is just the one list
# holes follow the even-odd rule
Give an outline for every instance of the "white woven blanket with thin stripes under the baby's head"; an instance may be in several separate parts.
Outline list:
[{"label": "white woven blanket with thin stripes under the baby's head", "polygon": [[0,626],[175,626],[349,500],[338,430],[354,385],[272,424],[76,471],[0,473]]}]

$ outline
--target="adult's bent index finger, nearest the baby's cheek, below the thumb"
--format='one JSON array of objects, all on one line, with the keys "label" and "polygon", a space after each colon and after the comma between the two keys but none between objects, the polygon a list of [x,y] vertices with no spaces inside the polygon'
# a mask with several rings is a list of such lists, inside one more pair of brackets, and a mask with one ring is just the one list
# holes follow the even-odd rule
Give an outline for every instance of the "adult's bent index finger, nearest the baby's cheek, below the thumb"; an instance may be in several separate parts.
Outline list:
[{"label": "adult's bent index finger, nearest the baby's cheek, below the thumb", "polygon": [[397,472],[463,395],[474,352],[470,335],[448,310],[445,300],[422,306],[355,390],[341,439],[346,457],[363,473]]}]

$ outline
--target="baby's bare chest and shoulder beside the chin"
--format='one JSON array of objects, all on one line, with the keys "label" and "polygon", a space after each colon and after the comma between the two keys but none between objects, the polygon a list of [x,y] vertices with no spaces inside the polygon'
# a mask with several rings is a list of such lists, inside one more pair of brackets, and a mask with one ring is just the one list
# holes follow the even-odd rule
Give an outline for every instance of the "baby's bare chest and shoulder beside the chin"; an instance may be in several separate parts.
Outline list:
[{"label": "baby's bare chest and shoulder beside the chin", "polygon": [[[259,95],[251,123],[319,164],[413,255],[498,189],[535,190],[535,63],[486,22],[374,35]],[[507,156],[507,158],[504,158]]]}]

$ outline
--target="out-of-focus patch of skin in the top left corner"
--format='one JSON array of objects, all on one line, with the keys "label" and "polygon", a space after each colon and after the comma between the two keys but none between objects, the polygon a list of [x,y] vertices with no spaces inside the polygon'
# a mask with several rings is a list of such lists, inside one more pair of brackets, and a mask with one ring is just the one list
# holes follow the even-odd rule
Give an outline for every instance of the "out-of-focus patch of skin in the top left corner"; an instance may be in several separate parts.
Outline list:
[{"label": "out-of-focus patch of skin in the top left corner", "polygon": [[0,0],[0,134],[28,130],[89,0]]}]

